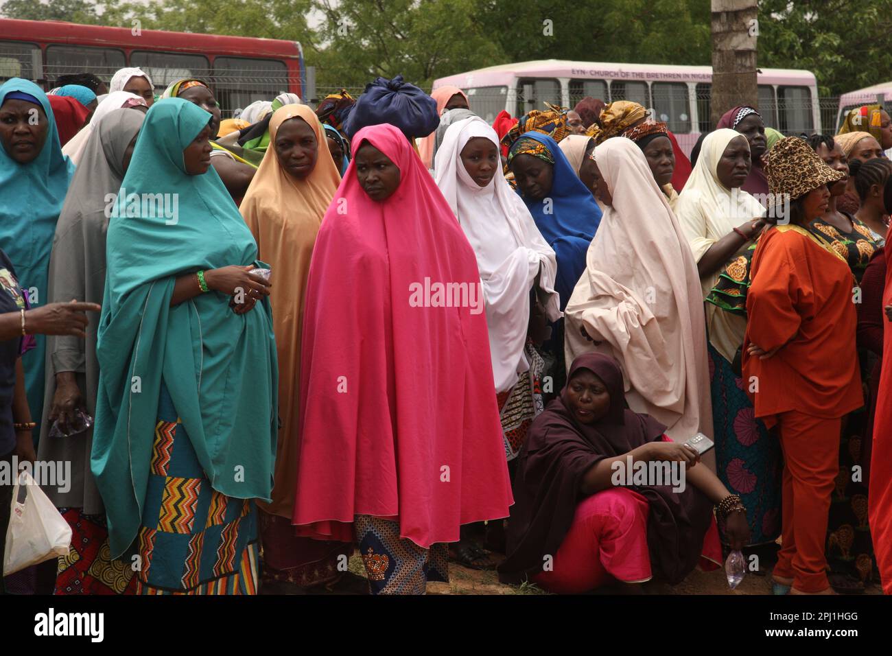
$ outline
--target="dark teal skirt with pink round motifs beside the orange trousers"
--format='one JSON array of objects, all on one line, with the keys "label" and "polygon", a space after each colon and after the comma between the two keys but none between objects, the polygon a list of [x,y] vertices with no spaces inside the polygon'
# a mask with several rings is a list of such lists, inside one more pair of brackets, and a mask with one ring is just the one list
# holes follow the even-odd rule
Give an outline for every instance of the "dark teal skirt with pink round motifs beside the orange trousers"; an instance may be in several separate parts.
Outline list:
[{"label": "dark teal skirt with pink round motifs beside the orange trousers", "polygon": [[780,535],[780,442],[756,419],[745,381],[713,345],[707,348],[716,474],[747,507],[750,544],[771,543]]}]

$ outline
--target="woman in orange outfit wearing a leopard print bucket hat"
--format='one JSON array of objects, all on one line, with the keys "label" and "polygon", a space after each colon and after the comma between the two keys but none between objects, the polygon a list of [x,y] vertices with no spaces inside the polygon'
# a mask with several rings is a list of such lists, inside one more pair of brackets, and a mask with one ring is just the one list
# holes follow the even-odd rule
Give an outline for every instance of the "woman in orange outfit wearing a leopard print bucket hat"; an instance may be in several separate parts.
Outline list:
[{"label": "woman in orange outfit wearing a leopard print bucket hat", "polygon": [[765,170],[774,198],[789,199],[789,212],[765,229],[753,255],[743,372],[756,417],[778,426],[784,455],[774,587],[778,594],[835,594],[824,533],[842,417],[863,405],[857,299],[846,261],[805,226],[827,209],[827,184],[842,173],[798,137],[781,139]]}]

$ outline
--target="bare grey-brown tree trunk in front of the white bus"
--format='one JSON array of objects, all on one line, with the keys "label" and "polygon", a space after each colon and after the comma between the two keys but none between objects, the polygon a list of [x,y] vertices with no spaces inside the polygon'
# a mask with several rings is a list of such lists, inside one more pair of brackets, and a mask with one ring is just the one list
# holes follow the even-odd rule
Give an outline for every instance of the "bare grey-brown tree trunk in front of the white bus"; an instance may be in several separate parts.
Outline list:
[{"label": "bare grey-brown tree trunk in front of the white bus", "polygon": [[712,0],[713,84],[709,119],[713,127],[737,105],[758,109],[756,0]]}]

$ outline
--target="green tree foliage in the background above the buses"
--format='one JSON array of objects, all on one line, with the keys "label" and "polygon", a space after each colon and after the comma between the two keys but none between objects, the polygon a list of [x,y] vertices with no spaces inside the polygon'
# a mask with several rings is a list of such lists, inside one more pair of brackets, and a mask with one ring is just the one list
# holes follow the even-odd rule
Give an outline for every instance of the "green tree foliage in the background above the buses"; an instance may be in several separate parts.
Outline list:
[{"label": "green tree foliage in the background above the buses", "polygon": [[[434,79],[506,62],[709,64],[709,0],[6,0],[0,13],[300,41],[317,85]],[[546,23],[545,21],[550,21]],[[759,65],[814,71],[821,95],[892,79],[892,0],[760,0]]]}]

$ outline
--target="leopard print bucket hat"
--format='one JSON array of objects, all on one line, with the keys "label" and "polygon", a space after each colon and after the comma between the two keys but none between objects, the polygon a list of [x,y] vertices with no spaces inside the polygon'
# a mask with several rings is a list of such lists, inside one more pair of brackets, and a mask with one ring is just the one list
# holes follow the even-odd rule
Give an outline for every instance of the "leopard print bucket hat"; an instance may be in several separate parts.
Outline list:
[{"label": "leopard print bucket hat", "polygon": [[768,152],[763,168],[772,197],[789,195],[793,201],[813,189],[846,177],[842,171],[827,166],[800,137],[780,139]]}]

